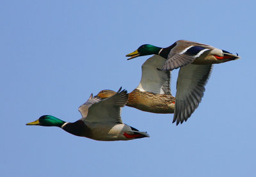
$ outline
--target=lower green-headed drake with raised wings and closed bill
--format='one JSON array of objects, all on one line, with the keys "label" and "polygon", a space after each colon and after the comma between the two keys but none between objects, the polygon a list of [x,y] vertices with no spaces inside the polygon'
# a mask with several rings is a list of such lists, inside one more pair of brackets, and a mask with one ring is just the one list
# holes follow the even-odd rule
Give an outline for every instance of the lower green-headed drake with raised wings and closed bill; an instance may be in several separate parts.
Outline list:
[{"label": "lower green-headed drake with raised wings and closed bill", "polygon": [[74,123],[68,123],[54,116],[41,116],[36,121],[26,125],[40,125],[45,127],[60,127],[66,132],[95,139],[98,141],[131,140],[149,137],[147,132],[140,132],[136,128],[125,125],[120,117],[121,107],[127,103],[128,94],[121,88],[107,99],[91,95],[86,103],[79,107],[82,118]]}]

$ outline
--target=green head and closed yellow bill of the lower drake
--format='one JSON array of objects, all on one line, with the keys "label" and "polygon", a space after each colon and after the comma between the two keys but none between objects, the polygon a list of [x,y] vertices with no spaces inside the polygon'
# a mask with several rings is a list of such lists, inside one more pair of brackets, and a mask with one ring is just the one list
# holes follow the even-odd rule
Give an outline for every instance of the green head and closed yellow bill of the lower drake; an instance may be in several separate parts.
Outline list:
[{"label": "green head and closed yellow bill of the lower drake", "polygon": [[41,116],[39,119],[36,121],[33,121],[31,123],[27,123],[26,125],[40,125],[40,126],[45,126],[45,127],[61,127],[65,121],[62,121],[61,119],[55,118],[54,116]]}]

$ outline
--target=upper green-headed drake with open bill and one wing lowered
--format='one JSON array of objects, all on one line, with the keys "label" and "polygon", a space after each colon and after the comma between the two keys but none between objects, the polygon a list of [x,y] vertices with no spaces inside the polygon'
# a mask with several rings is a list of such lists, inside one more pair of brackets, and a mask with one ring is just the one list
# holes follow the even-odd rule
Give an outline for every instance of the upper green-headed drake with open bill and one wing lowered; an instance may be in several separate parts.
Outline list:
[{"label": "upper green-headed drake with open bill and one wing lowered", "polygon": [[132,59],[151,54],[166,59],[162,70],[172,71],[180,68],[173,117],[173,123],[177,121],[177,125],[179,122],[187,121],[201,102],[205,84],[211,74],[212,64],[240,58],[226,50],[186,40],[179,40],[166,48],[149,44],[141,45],[126,56]]}]

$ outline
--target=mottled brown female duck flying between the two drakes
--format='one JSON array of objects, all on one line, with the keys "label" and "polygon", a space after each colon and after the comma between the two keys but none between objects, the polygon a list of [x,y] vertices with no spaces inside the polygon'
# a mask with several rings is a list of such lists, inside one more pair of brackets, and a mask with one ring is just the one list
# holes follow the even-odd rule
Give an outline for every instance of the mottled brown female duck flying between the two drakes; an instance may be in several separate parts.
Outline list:
[{"label": "mottled brown female duck flying between the two drakes", "polygon": [[[129,93],[127,106],[154,113],[173,113],[175,98],[170,91],[169,71],[161,70],[166,59],[154,55],[141,66],[139,86]],[[98,93],[100,98],[109,98],[116,92],[104,89]]]}]

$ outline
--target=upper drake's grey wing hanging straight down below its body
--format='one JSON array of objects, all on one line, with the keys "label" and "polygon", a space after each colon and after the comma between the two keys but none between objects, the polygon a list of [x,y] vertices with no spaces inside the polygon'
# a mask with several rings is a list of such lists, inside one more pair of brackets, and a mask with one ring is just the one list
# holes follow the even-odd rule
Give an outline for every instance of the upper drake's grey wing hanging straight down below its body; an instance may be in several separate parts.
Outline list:
[{"label": "upper drake's grey wing hanging straight down below its body", "polygon": [[177,79],[173,123],[187,121],[204,96],[205,84],[212,65],[186,65],[180,68]]}]

